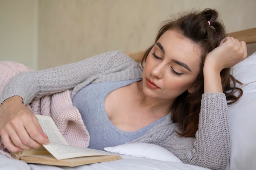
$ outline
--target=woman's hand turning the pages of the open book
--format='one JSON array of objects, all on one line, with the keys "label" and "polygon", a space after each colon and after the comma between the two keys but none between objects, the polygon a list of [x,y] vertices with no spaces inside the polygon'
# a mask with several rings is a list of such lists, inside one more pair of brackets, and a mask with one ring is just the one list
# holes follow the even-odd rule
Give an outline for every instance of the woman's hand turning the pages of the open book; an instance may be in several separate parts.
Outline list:
[{"label": "woman's hand turning the pages of the open book", "polygon": [[22,103],[22,98],[13,96],[0,106],[0,135],[4,147],[11,152],[39,148],[49,144],[36,116]]}]

